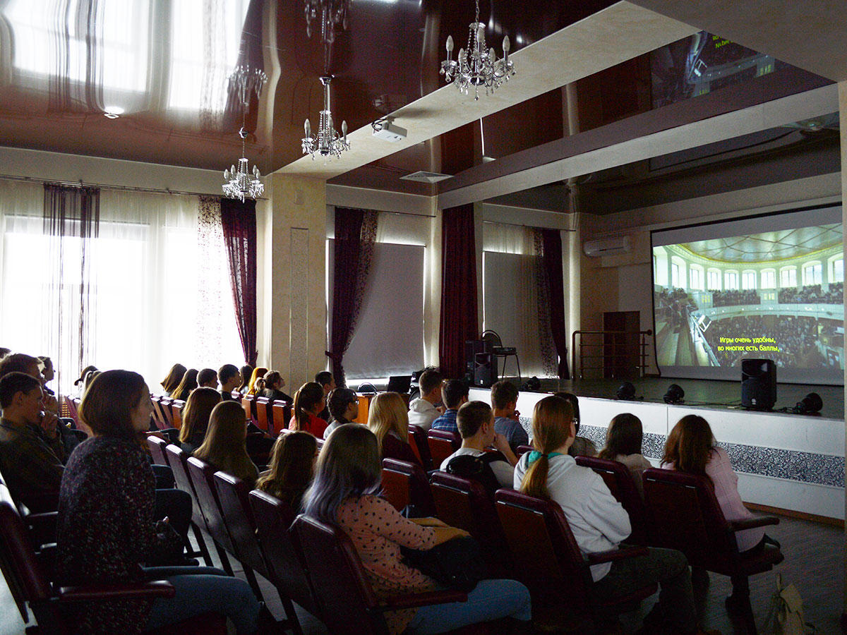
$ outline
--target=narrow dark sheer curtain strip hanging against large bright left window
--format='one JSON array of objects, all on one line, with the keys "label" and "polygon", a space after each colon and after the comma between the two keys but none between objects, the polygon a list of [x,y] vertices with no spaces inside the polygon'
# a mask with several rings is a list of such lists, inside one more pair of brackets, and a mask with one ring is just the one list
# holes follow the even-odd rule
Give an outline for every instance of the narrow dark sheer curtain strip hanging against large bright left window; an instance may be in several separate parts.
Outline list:
[{"label": "narrow dark sheer curtain strip hanging against large bright left window", "polygon": [[[91,244],[100,227],[100,189],[44,185],[44,235],[49,236],[51,275],[46,301],[48,351],[53,357],[57,385],[63,367],[82,372],[91,354],[96,324],[91,295]],[[67,362],[69,358],[70,364]]]}]

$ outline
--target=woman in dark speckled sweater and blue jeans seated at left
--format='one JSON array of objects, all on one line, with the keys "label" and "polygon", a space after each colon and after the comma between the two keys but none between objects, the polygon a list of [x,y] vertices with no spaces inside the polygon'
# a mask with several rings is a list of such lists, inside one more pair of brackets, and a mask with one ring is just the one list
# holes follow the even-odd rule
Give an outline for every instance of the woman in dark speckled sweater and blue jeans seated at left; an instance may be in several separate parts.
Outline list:
[{"label": "woman in dark speckled sweater and blue jeans seated at left", "polygon": [[156,514],[152,472],[136,443],[150,420],[149,396],[141,375],[113,370],[97,377],[80,404],[94,437],[75,450],[62,479],[56,573],[71,586],[165,578],[176,594],[74,603],[75,632],[141,633],[210,611],[229,617],[238,633],[255,632],[260,606],[244,581],[212,567],[142,568],[179,554],[182,544]]}]

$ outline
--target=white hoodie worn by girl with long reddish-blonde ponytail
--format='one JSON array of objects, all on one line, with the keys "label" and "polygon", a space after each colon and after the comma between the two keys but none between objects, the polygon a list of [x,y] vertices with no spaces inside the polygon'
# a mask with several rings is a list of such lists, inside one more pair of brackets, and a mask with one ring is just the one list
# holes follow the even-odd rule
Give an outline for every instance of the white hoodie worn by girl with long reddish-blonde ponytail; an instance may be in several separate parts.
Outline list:
[{"label": "white hoodie worn by girl with long reddish-blonde ponytail", "polygon": [[[528,471],[529,452],[515,467],[515,489],[520,489]],[[573,538],[584,554],[608,551],[632,533],[629,515],[606,487],[600,475],[590,467],[579,467],[573,456],[551,456],[547,489],[565,512]],[[612,563],[591,566],[596,582],[612,568]]]}]

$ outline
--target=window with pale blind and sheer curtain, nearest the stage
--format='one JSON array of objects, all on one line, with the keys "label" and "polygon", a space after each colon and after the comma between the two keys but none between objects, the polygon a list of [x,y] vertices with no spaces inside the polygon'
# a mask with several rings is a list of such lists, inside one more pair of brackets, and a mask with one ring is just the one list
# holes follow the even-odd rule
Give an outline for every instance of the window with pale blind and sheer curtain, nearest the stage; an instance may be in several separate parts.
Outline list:
[{"label": "window with pale blind and sheer curtain, nearest the stage", "polygon": [[[483,328],[518,349],[523,378],[545,377],[538,320],[538,263],[532,228],[483,224]],[[508,374],[517,373],[507,358]]]}]

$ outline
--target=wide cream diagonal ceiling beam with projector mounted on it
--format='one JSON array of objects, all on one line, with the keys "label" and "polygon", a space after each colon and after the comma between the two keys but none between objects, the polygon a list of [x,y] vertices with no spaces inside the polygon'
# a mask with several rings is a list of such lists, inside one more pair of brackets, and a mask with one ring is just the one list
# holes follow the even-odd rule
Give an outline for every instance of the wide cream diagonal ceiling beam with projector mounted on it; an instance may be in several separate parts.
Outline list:
[{"label": "wide cream diagonal ceiling beam with projector mounted on it", "polygon": [[[331,179],[698,30],[634,3],[613,4],[513,53],[518,75],[492,95],[474,101],[473,95],[462,95],[455,86],[447,85],[392,113],[394,123],[408,130],[404,141],[375,139],[367,125],[347,135],[351,149],[340,159],[324,164],[302,157],[278,172]],[[343,104],[340,108],[343,110]],[[341,119],[338,113],[336,117]]]}]

